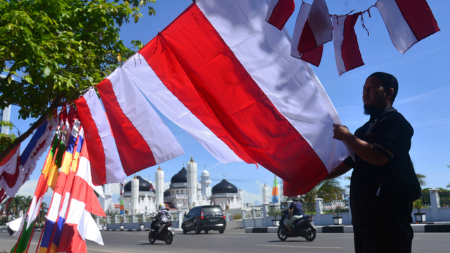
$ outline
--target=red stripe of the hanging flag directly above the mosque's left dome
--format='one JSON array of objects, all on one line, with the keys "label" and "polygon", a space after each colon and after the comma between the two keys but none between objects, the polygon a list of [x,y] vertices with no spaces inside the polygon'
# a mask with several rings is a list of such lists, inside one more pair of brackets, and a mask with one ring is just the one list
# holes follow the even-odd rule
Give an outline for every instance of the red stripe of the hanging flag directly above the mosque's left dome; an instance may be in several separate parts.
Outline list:
[{"label": "red stripe of the hanging flag directly above the mosque's left dome", "polygon": [[[120,69],[118,69],[120,70]],[[134,86],[134,84],[131,84]],[[125,96],[135,95],[133,87],[129,82],[123,82],[123,89],[131,91],[131,93],[117,93],[117,95]],[[119,151],[120,161],[124,167],[125,174],[128,176],[136,173],[142,169],[146,169],[156,164],[153,157],[152,150],[146,143],[146,140],[141,136],[141,133],[136,129],[130,119],[124,115],[122,108],[120,108],[119,102],[116,98],[116,93],[113,90],[113,84],[109,79],[104,79],[97,85],[98,93],[102,98],[103,106],[108,114],[108,119],[111,124],[111,130],[115,136],[115,142],[117,144],[117,151]],[[143,106],[142,101],[135,100],[136,107]],[[141,103],[140,103],[141,102]],[[149,105],[150,106],[150,105]],[[148,124],[151,127],[151,124]],[[130,152],[133,150],[133,152]]]}]

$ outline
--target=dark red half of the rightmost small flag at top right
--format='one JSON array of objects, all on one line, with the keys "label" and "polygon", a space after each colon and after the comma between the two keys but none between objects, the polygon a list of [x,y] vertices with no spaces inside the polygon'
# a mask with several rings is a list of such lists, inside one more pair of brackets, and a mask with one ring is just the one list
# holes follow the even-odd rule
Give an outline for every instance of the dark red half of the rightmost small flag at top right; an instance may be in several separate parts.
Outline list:
[{"label": "dark red half of the rightmost small flag at top right", "polygon": [[435,16],[427,1],[395,0],[395,2],[418,41],[439,31]]}]

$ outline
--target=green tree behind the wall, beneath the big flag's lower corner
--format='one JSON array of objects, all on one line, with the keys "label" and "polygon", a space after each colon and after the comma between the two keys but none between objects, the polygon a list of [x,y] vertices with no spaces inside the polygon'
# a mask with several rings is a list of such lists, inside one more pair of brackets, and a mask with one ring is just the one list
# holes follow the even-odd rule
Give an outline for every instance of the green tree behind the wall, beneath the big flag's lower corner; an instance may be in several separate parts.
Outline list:
[{"label": "green tree behind the wall, beneath the big flag's lower corner", "polygon": [[321,181],[308,193],[302,195],[304,202],[314,202],[316,197],[321,197],[325,201],[336,200],[342,197],[342,187],[337,179]]}]

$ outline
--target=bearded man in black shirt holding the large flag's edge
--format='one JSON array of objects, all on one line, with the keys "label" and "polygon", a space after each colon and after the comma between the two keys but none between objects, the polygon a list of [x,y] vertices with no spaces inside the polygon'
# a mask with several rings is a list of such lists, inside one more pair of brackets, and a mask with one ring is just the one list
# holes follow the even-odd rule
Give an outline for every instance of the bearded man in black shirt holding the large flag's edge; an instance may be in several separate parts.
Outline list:
[{"label": "bearded man in black shirt holding the large flag's edge", "polygon": [[398,82],[392,74],[371,74],[363,88],[364,113],[371,116],[369,121],[354,135],[346,126],[333,125],[333,138],[345,141],[355,152],[355,161],[348,158],[326,179],[354,169],[350,206],[356,253],[411,252],[413,207],[402,192],[399,170],[413,171],[409,157],[413,128],[392,108],[397,91]]}]

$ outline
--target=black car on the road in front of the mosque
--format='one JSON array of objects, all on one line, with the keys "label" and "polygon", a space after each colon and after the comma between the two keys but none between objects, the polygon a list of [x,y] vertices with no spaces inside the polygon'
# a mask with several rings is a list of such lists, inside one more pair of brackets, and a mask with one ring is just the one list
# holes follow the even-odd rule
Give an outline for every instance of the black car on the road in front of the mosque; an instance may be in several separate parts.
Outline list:
[{"label": "black car on the road in front of the mosque", "polygon": [[199,234],[201,231],[208,233],[211,230],[224,233],[226,228],[225,212],[218,205],[193,207],[188,214],[184,214],[181,228],[183,228],[183,233],[195,231]]}]

